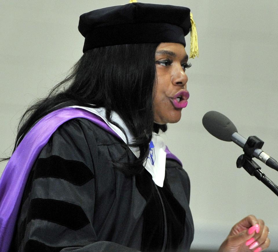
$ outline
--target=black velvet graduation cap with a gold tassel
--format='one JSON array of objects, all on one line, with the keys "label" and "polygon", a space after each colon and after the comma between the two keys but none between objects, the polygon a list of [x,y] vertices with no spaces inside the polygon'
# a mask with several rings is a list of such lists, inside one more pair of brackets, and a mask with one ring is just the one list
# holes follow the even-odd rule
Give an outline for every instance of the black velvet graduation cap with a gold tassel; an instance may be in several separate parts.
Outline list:
[{"label": "black velvet graduation cap with a gold tassel", "polygon": [[85,37],[83,52],[134,43],[172,42],[185,46],[184,36],[191,31],[190,57],[199,56],[196,27],[189,8],[130,2],[80,16],[78,30]]}]

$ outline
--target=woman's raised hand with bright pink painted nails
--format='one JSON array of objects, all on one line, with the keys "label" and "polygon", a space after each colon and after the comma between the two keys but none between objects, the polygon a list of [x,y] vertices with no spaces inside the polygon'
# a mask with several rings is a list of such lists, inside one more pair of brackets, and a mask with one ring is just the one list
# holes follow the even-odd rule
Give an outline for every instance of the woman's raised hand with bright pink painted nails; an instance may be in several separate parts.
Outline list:
[{"label": "woman's raised hand with bright pink painted nails", "polygon": [[231,229],[219,252],[259,252],[268,248],[268,227],[254,215],[248,215]]}]

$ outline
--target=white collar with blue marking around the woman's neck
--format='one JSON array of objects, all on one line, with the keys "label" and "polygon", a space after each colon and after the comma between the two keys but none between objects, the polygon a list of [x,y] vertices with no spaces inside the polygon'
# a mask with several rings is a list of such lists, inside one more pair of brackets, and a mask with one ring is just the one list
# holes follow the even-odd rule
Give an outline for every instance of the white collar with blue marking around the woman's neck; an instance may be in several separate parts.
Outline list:
[{"label": "white collar with blue marking around the woman's neck", "polygon": [[[119,137],[125,143],[127,143],[124,133],[117,126],[115,126],[114,124],[111,124],[106,119],[105,108],[90,108],[90,107],[82,107],[82,106],[70,106],[69,108],[82,108],[82,109],[85,109],[87,111],[94,113],[95,115],[98,115],[105,121],[105,123],[114,132],[116,132],[119,135]],[[133,137],[132,133],[127,128],[125,123],[122,121],[120,116],[114,111],[111,112],[111,120],[113,122],[116,122],[117,124],[119,124],[122,127],[122,129],[125,131],[128,141],[130,143],[133,142],[134,137]],[[166,148],[166,145],[164,144],[164,141],[163,141],[162,137],[160,137],[160,135],[153,133],[153,137],[151,139],[151,143],[149,146],[150,146],[150,148],[149,148],[150,153],[149,153],[147,160],[144,162],[144,167],[151,174],[153,182],[156,185],[162,187],[163,182],[164,182],[164,177],[165,177],[165,164],[166,164],[165,148]],[[129,147],[129,148],[136,157],[139,157],[140,151],[139,151],[138,147]]]}]

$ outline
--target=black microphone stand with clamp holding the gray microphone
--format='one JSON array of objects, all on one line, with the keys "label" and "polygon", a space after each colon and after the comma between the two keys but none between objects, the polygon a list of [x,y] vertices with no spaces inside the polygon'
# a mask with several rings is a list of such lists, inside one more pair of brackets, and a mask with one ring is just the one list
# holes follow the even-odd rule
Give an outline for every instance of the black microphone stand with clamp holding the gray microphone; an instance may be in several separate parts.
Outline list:
[{"label": "black microphone stand with clamp holding the gray microphone", "polygon": [[244,154],[240,155],[237,159],[237,168],[243,167],[251,176],[255,176],[278,196],[278,186],[266,177],[261,172],[261,167],[252,160],[255,149],[261,149],[263,144],[264,142],[256,136],[248,137],[243,147]]}]

